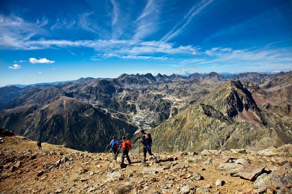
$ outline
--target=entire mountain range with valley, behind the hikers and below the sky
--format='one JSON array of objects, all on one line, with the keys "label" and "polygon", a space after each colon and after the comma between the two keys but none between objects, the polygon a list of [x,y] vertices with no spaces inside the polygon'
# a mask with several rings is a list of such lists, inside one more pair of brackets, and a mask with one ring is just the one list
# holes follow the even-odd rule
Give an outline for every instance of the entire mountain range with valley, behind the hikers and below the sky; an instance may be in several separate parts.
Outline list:
[{"label": "entire mountain range with valley, behind the hikers and below the sky", "polygon": [[292,141],[292,72],[121,74],[0,88],[0,127],[92,152],[149,130],[156,149],[280,146]]}]

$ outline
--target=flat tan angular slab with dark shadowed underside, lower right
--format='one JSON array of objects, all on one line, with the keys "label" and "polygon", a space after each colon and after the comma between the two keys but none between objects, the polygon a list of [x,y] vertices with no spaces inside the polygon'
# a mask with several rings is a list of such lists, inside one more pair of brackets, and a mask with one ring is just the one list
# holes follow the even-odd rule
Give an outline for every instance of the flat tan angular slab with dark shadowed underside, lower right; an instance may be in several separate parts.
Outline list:
[{"label": "flat tan angular slab with dark shadowed underside, lower right", "polygon": [[233,177],[242,177],[244,179],[253,181],[261,172],[266,168],[265,165],[254,165],[250,163],[244,163],[241,167],[234,172],[230,173]]}]

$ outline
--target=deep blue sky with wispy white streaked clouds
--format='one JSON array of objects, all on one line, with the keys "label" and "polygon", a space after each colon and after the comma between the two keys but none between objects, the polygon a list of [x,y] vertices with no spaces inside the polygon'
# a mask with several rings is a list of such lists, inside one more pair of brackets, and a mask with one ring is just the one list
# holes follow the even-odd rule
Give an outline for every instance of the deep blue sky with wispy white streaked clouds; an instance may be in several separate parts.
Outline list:
[{"label": "deep blue sky with wispy white streaked clouds", "polygon": [[1,1],[0,86],[289,71],[292,1]]}]

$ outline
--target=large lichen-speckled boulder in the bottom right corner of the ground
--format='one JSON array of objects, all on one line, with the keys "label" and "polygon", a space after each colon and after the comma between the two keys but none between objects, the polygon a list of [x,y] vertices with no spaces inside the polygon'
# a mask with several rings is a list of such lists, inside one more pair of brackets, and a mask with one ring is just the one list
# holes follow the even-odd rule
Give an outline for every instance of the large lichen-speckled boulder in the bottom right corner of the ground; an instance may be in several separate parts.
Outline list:
[{"label": "large lichen-speckled boulder in the bottom right corner of the ground", "polygon": [[292,162],[287,162],[278,170],[271,172],[270,175],[263,177],[259,181],[253,183],[256,188],[272,188],[277,186],[279,188],[291,187],[292,185]]}]

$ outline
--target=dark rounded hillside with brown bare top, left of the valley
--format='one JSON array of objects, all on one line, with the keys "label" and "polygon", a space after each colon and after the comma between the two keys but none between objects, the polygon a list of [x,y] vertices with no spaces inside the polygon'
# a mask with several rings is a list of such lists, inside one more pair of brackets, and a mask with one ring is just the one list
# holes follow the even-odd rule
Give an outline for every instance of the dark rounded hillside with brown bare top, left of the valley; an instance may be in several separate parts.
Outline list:
[{"label": "dark rounded hillside with brown bare top, left of the valley", "polygon": [[66,95],[4,110],[0,122],[28,138],[41,137],[48,143],[91,152],[107,149],[113,134],[131,137],[138,129],[105,110]]}]

